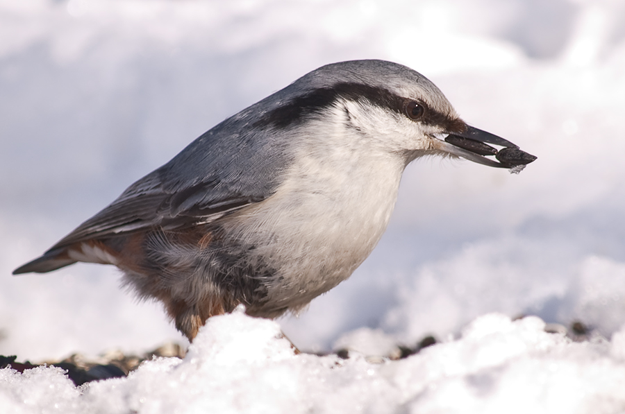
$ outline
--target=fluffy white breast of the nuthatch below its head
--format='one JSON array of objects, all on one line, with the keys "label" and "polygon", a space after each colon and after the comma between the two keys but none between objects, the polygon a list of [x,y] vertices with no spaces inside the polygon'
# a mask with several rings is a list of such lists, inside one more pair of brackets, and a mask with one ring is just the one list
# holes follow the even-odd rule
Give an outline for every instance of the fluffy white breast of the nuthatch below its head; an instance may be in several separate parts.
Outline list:
[{"label": "fluffy white breast of the nuthatch below its head", "polygon": [[310,125],[298,138],[286,180],[239,221],[257,254],[279,269],[269,296],[295,308],[347,279],[373,250],[405,166],[344,124]]}]

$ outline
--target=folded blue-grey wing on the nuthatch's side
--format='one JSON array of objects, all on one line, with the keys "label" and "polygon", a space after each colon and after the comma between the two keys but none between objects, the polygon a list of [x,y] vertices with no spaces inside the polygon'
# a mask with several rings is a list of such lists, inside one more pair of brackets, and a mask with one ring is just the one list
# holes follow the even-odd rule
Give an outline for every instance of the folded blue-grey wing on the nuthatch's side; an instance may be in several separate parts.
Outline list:
[{"label": "folded blue-grey wing on the nuthatch's side", "polygon": [[201,135],[49,251],[149,227],[210,223],[270,196],[289,157],[271,129],[247,128],[248,118],[240,112]]}]

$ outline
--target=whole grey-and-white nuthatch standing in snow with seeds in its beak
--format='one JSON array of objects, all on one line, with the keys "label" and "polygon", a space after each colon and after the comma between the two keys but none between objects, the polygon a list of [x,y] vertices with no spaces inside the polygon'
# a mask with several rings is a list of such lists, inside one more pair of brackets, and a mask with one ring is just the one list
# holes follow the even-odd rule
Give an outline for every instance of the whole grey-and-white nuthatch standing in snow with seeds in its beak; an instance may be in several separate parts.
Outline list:
[{"label": "whole grey-and-white nuthatch standing in snow with seeds in its beak", "polygon": [[241,304],[298,313],[363,263],[405,167],[433,155],[513,172],[536,159],[462,121],[417,71],[327,64],[205,132],[13,274],[117,266],[189,340]]}]

